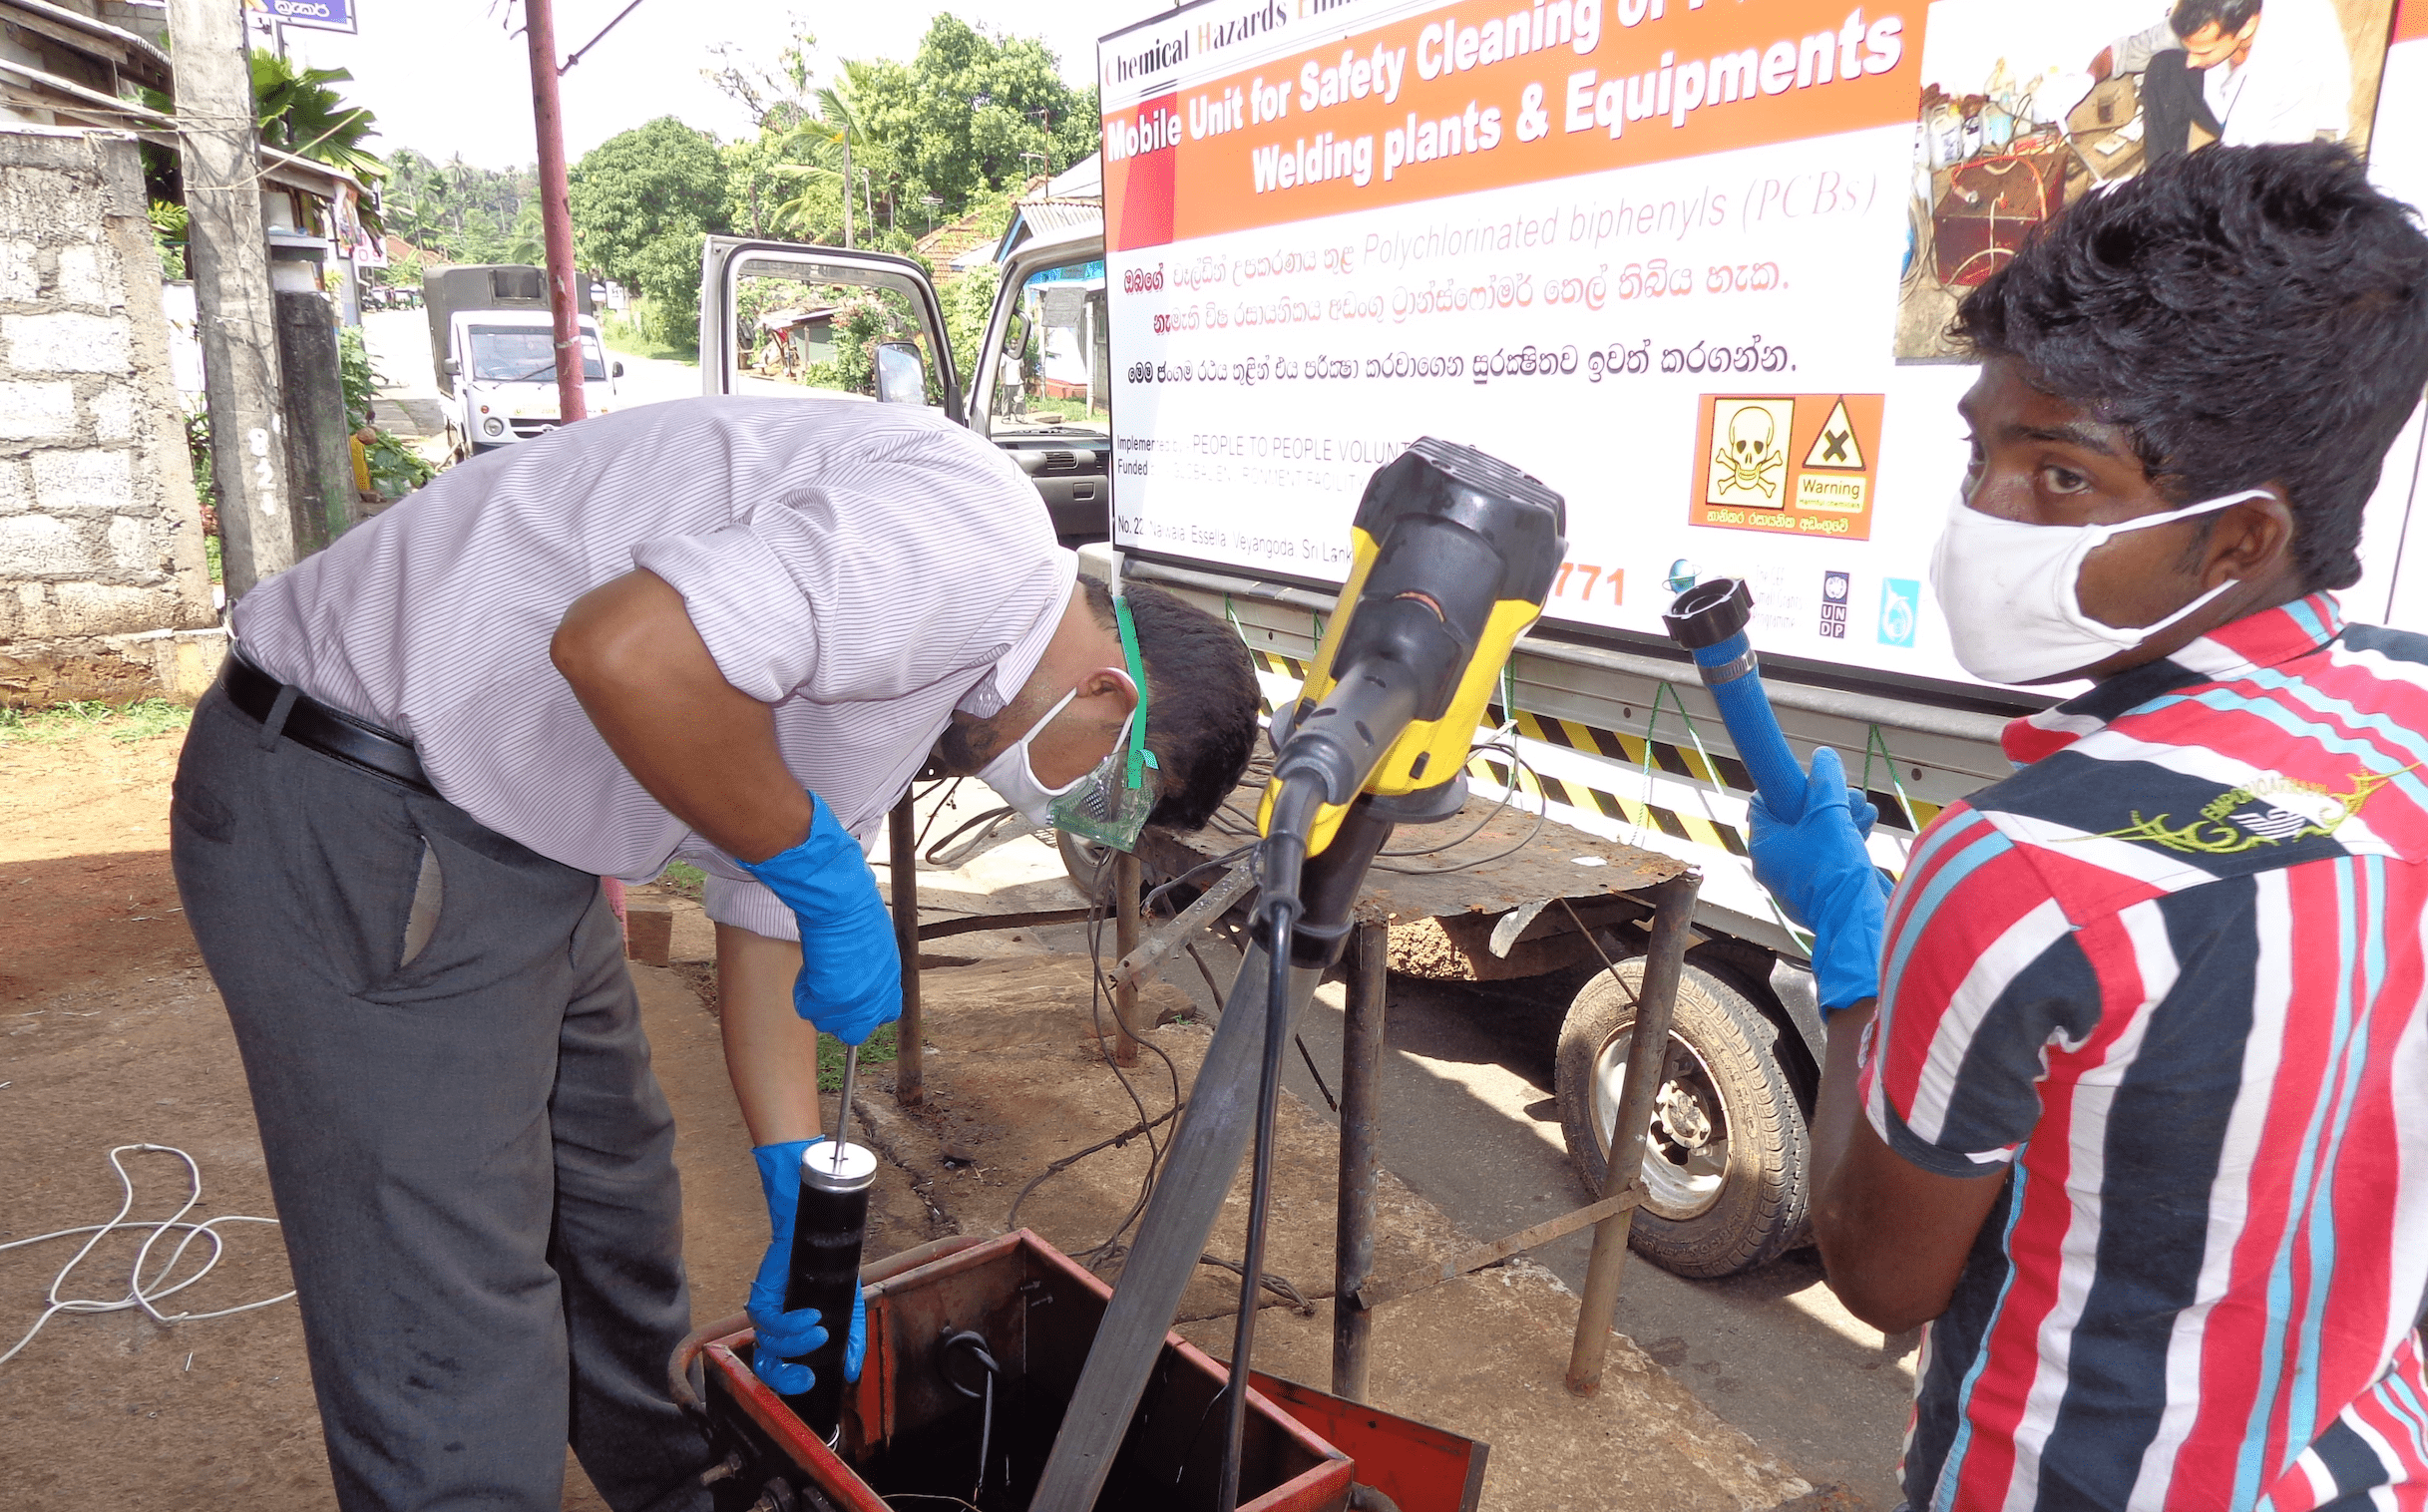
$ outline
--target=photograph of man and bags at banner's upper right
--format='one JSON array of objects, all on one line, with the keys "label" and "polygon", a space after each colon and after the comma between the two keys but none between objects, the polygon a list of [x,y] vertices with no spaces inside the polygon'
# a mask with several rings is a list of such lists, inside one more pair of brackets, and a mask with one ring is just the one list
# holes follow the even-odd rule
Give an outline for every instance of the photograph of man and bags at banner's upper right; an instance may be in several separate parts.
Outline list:
[{"label": "photograph of man and bags at banner's upper right", "polygon": [[2394,0],[1938,0],[1923,36],[1901,362],[2061,206],[2212,143],[2370,146]]}]

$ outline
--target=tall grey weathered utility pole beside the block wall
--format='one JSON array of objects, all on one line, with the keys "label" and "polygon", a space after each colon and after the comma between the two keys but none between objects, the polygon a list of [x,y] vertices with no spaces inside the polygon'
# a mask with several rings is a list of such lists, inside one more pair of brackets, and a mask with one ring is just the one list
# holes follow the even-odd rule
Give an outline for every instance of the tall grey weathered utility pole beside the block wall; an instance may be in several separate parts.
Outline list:
[{"label": "tall grey weathered utility pole beside the block wall", "polygon": [[211,408],[221,573],[233,604],[296,561],[253,68],[240,0],[170,0],[168,29],[177,51],[177,141]]}]

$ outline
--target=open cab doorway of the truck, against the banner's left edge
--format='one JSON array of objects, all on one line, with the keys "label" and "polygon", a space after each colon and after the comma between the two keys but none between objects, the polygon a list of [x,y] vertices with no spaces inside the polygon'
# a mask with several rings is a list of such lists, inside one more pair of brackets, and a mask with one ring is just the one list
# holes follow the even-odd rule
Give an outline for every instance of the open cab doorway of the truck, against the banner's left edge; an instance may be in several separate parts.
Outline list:
[{"label": "open cab doorway of the truck, against the banner's left edge", "polygon": [[1022,243],[969,376],[969,425],[1037,483],[1063,544],[1112,534],[1105,235]]}]

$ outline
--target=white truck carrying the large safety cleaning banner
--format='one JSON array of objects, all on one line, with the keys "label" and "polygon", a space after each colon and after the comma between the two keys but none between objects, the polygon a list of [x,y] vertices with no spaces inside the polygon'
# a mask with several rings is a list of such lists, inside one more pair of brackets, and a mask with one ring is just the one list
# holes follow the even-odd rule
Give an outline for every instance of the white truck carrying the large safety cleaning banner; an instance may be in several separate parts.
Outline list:
[{"label": "white truck carrying the large safety cleaning banner", "polygon": [[[2428,0],[2406,5],[2338,0],[2365,41],[2350,141],[2428,204]],[[1204,0],[1102,41],[1105,226],[1010,255],[966,393],[942,320],[923,337],[944,408],[1049,498],[1110,476],[1122,573],[1229,614],[1275,704],[1318,646],[1367,473],[1411,439],[1566,495],[1568,563],[1469,774],[1702,869],[1634,1226],[1683,1274],[1804,1238],[1821,1024],[1804,939],[1746,864],[1751,784],[1658,614],[1695,575],[1753,585],[1787,738],[1843,752],[1889,871],[2010,769],[2003,723],[2052,699],[1969,680],[1925,587],[1974,374],[1940,328],[2047,214],[2139,167],[2132,83],[2076,70],[2166,10]],[[898,260],[711,240],[711,393],[733,366],[709,332],[777,274],[932,308]],[[1110,332],[1110,403],[1025,359],[1039,320],[1073,349]],[[2416,415],[2370,505],[2355,619],[2428,624],[2428,570],[2404,570],[2421,493]],[[1454,944],[1479,978],[1590,961],[1559,913],[1515,949],[1491,949],[1491,920]],[[1573,990],[1556,1092],[1598,1192],[1632,1010],[1581,976],[1542,980]]]}]

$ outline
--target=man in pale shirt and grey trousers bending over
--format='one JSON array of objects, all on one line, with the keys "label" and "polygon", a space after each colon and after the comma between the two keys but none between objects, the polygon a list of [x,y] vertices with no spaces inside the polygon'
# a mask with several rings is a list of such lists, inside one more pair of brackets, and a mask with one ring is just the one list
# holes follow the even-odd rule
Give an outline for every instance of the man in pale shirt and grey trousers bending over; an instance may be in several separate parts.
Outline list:
[{"label": "man in pale shirt and grey trousers bending over", "polygon": [[697,398],[459,466],[243,597],[172,852],[337,1505],[554,1512],[568,1442],[617,1512],[709,1505],[665,1388],[675,1129],[600,876],[709,871],[755,1369],[806,1391],[782,1362],[860,1332],[782,1291],[818,1029],[901,1012],[862,845],[930,750],[1039,825],[1112,772],[1144,801],[1095,813],[1195,828],[1258,733],[1229,626],[1076,565],[940,415]]}]

